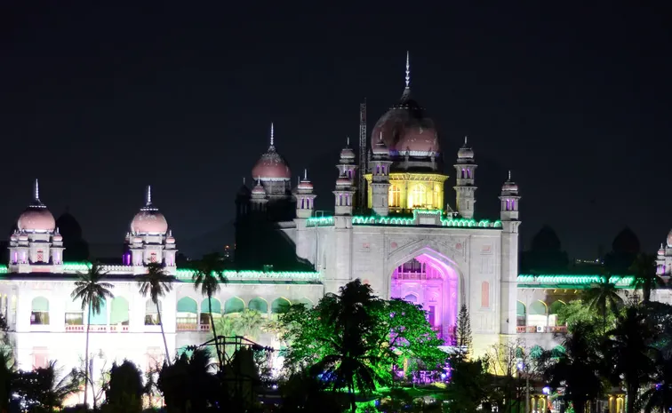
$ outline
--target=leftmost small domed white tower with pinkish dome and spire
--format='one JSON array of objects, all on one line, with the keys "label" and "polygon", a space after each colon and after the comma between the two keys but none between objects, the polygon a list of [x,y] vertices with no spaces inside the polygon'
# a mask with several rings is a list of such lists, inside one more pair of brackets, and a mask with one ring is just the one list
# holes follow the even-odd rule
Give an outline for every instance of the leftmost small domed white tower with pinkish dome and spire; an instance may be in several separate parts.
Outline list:
[{"label": "leftmost small domed white tower with pinkish dome and spire", "polygon": [[52,212],[40,201],[37,179],[33,186],[33,201],[21,213],[16,226],[9,243],[10,272],[62,272],[63,237],[56,228]]}]

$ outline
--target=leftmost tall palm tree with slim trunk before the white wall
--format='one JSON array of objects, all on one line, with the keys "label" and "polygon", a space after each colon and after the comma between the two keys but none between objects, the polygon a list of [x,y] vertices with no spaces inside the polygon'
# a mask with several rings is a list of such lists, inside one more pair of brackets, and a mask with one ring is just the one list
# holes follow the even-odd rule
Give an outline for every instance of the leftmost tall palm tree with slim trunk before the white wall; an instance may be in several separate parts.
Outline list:
[{"label": "leftmost tall palm tree with slim trunk before the white wall", "polygon": [[84,406],[88,406],[89,395],[89,376],[91,375],[91,366],[89,366],[89,331],[91,329],[92,314],[100,314],[105,300],[113,298],[112,288],[114,285],[109,282],[103,282],[108,273],[102,270],[102,266],[93,263],[86,273],[80,273],[79,279],[75,282],[75,290],[70,297],[73,300],[82,300],[82,311],[87,311],[86,318],[86,347],[84,353]]}]

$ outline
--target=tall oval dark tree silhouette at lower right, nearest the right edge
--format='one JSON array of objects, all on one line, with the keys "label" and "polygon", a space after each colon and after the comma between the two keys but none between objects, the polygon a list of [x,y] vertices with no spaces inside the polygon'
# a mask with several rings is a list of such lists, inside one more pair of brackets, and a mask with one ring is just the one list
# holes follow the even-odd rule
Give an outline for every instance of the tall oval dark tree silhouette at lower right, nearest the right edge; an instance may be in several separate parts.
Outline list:
[{"label": "tall oval dark tree silhouette at lower right, nearest the right edge", "polygon": [[606,334],[604,360],[608,361],[612,382],[618,384],[622,379],[625,385],[627,413],[636,412],[639,389],[650,383],[654,371],[655,330],[647,320],[647,313],[642,307],[629,306],[619,315],[613,330]]}]

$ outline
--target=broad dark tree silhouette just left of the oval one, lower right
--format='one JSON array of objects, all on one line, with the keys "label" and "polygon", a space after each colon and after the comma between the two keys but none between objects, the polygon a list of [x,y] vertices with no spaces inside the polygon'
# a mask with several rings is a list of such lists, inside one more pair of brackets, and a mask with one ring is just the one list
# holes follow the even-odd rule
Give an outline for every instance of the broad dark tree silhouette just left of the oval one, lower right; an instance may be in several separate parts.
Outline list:
[{"label": "broad dark tree silhouette just left of the oval one, lower right", "polygon": [[541,356],[544,377],[554,388],[564,386],[564,397],[572,401],[576,413],[583,413],[588,401],[604,392],[599,342],[593,330],[594,325],[577,322],[564,339],[564,352],[545,351]]}]

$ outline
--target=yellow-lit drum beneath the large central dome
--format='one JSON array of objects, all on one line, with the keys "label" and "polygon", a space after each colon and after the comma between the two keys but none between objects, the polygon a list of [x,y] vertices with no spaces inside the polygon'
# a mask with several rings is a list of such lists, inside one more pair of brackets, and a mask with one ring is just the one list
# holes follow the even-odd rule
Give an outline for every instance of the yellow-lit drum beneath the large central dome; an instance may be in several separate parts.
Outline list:
[{"label": "yellow-lit drum beneath the large central dome", "polygon": [[[365,176],[368,206],[372,207],[371,174]],[[390,212],[443,210],[445,175],[436,173],[390,173],[388,205]]]}]

